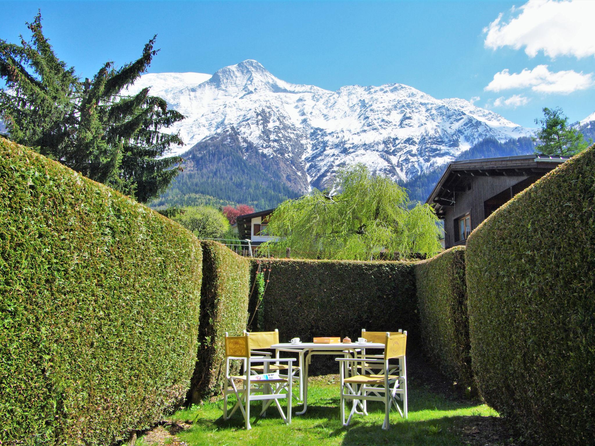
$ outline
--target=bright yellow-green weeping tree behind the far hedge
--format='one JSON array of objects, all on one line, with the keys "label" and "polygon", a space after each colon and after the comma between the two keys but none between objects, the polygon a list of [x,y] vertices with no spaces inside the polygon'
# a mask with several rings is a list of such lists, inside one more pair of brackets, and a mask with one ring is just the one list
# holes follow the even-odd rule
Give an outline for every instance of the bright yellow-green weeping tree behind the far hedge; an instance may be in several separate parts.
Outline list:
[{"label": "bright yellow-green weeping tree behind the far hedge", "polygon": [[271,249],[290,247],[300,256],[369,260],[381,252],[402,257],[432,256],[440,251],[434,210],[418,204],[408,209],[403,187],[372,175],[362,164],[337,174],[330,196],[313,190],[281,203],[271,215],[268,234],[278,237]]}]

